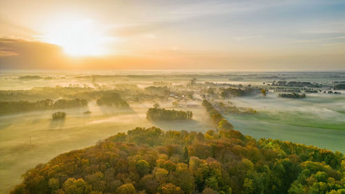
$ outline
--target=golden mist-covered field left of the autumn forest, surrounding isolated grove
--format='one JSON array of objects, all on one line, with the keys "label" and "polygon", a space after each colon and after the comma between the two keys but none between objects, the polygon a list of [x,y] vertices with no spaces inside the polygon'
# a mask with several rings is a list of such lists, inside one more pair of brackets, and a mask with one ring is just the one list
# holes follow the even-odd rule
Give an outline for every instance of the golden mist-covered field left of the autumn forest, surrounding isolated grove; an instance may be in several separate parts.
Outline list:
[{"label": "golden mist-covered field left of the autumn forest, surrounding isolated grove", "polygon": [[[160,103],[172,108],[171,103]],[[85,148],[111,135],[136,127],[157,126],[165,130],[195,130],[205,132],[213,127],[201,106],[189,108],[193,120],[189,122],[149,122],[146,110],[152,103],[131,104],[131,108],[97,106],[95,101],[87,108],[72,108],[65,120],[54,121],[52,113],[58,110],[33,111],[0,117],[0,192],[8,193],[20,182],[22,173],[61,153]],[[84,115],[85,111],[90,115]]]}]

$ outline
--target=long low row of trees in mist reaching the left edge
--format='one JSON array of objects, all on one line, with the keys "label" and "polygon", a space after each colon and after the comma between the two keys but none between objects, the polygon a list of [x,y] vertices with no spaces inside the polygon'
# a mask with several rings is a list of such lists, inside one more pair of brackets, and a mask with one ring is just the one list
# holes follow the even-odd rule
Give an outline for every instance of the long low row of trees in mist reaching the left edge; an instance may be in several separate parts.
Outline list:
[{"label": "long low row of trees in mist reaching the left edge", "polygon": [[0,114],[19,113],[31,110],[50,110],[88,106],[85,99],[45,99],[39,101],[0,101]]}]

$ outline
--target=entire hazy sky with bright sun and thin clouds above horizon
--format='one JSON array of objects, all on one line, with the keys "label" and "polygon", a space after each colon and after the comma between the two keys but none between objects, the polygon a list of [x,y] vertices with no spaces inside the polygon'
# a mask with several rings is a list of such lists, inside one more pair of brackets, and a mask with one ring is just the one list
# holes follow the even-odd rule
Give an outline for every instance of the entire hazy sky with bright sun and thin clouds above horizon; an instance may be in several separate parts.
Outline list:
[{"label": "entire hazy sky with bright sun and thin clouds above horizon", "polygon": [[0,69],[345,70],[345,1],[0,0]]}]

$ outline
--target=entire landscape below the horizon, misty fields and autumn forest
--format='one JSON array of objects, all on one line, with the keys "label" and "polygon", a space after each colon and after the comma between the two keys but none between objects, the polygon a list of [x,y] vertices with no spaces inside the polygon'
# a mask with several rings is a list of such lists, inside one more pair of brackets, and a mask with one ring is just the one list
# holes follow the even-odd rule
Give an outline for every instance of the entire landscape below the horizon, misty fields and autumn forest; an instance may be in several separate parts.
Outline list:
[{"label": "entire landscape below the horizon, misty fields and autumn forest", "polygon": [[0,193],[345,192],[344,153],[344,72],[0,72]]}]

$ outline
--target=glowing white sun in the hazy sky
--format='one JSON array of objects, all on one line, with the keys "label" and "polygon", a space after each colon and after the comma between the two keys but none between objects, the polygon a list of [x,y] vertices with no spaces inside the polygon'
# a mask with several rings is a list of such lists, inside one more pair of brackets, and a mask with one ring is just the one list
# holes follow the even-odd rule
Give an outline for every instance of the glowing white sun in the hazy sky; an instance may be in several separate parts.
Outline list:
[{"label": "glowing white sun in the hazy sky", "polygon": [[60,21],[53,23],[48,35],[48,43],[61,46],[68,55],[99,56],[106,55],[106,37],[92,20]]}]

